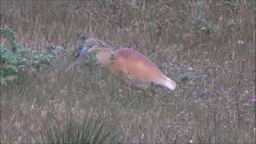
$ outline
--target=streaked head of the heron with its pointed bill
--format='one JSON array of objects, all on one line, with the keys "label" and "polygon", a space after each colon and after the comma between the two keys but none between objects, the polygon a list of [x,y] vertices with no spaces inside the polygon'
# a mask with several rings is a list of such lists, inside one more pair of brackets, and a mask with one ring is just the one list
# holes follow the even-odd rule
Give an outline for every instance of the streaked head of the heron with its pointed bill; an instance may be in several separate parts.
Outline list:
[{"label": "streaked head of the heron with its pointed bill", "polygon": [[111,52],[111,47],[106,44],[106,42],[103,42],[97,38],[88,38],[76,58],[84,58],[87,54],[91,52],[97,53],[98,51],[102,50],[108,50]]}]

